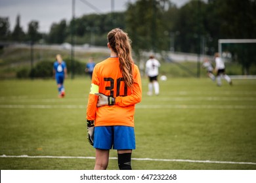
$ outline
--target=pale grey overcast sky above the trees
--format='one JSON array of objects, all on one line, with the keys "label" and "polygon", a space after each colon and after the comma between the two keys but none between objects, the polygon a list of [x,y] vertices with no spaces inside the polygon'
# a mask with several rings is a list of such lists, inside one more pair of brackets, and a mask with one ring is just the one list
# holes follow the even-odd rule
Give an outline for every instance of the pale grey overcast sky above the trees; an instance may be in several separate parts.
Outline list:
[{"label": "pale grey overcast sky above the trees", "polygon": [[[114,10],[126,10],[126,3],[137,0],[114,0]],[[181,7],[190,0],[171,0],[177,7]],[[112,0],[75,0],[75,17],[100,11],[111,12]],[[87,3],[93,5],[92,8]],[[32,20],[39,22],[40,32],[49,32],[51,24],[60,20],[70,21],[72,18],[72,0],[0,0],[0,16],[9,17],[11,31],[16,24],[16,16],[20,14],[20,24],[27,31]]]}]

